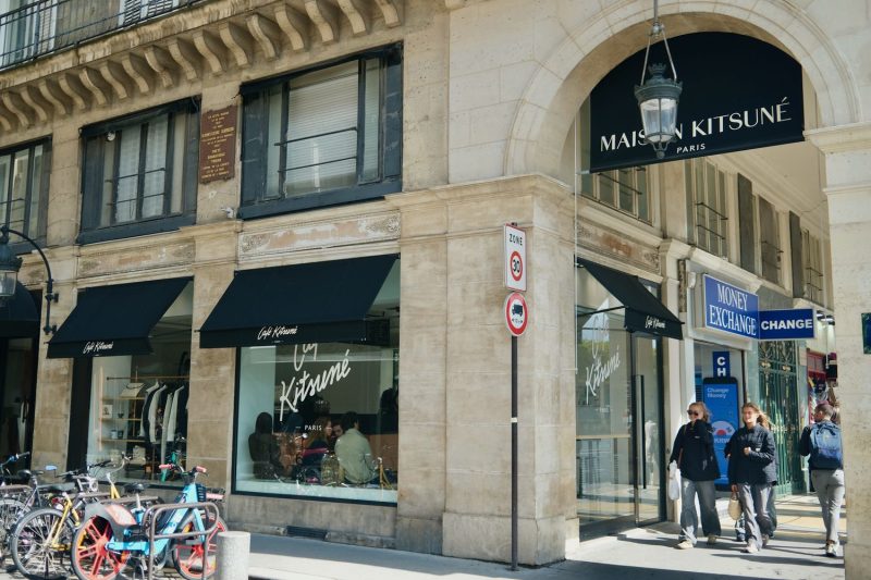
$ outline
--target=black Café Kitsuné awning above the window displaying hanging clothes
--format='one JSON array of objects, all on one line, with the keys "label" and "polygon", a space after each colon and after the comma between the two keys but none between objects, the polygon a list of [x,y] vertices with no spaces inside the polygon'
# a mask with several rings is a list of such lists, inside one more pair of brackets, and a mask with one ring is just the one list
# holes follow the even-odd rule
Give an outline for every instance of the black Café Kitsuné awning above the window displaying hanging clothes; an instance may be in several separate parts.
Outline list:
[{"label": "black Caf\u00e9 Kitsun\u00e9 awning above the window displaying hanging clothes", "polygon": [[151,353],[148,334],[189,277],[87,288],[48,343],[48,358]]}]

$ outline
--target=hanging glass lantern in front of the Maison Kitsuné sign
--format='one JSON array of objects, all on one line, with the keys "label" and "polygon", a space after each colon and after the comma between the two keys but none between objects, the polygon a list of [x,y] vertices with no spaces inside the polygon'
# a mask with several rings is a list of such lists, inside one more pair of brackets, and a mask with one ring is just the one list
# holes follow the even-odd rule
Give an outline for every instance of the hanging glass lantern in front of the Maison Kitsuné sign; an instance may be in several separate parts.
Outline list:
[{"label": "hanging glass lantern in front of the Maison Kitsun\u00e9 sign", "polygon": [[[662,37],[668,64],[672,67],[672,78],[665,78],[664,64],[651,64],[650,78],[645,81],[648,73],[648,58],[650,58],[650,44],[654,38]],[[657,159],[665,157],[665,149],[677,134],[677,103],[683,86],[677,82],[677,70],[674,67],[672,51],[668,49],[668,39],[665,37],[665,27],[659,17],[659,0],[653,0],[653,25],[647,39],[645,65],[641,69],[641,84],[635,87],[635,98],[641,111],[641,124],[645,127],[645,139],[653,146]]]}]

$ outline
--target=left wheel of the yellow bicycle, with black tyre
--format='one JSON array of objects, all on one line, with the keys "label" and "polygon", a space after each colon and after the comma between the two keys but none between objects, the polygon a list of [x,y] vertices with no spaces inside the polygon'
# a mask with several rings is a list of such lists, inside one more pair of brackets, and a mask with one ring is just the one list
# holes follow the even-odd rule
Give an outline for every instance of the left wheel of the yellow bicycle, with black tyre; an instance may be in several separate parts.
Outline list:
[{"label": "left wheel of the yellow bicycle, with black tyre", "polygon": [[[60,530],[59,530],[60,528]],[[63,580],[70,573],[66,555],[73,541],[73,523],[46,507],[26,514],[12,531],[12,562],[25,578]]]}]

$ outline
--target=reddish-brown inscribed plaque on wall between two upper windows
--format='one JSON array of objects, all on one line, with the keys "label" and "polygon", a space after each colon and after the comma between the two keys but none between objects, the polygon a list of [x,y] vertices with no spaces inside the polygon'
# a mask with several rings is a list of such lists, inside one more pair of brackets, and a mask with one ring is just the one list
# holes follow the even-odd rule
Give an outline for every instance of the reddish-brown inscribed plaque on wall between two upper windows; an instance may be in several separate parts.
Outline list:
[{"label": "reddish-brown inscribed plaque on wall between two upper windows", "polygon": [[238,107],[205,111],[199,124],[199,183],[233,177]]}]

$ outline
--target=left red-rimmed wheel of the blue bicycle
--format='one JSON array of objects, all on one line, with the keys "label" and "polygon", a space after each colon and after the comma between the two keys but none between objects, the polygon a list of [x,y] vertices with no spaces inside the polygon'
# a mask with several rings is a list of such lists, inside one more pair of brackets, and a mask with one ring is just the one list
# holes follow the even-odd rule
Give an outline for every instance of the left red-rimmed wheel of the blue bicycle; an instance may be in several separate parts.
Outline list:
[{"label": "left red-rimmed wheel of the blue bicycle", "polygon": [[112,540],[112,527],[103,518],[86,520],[73,536],[70,562],[79,580],[113,580],[127,560],[128,553],[112,552],[106,544]]}]

